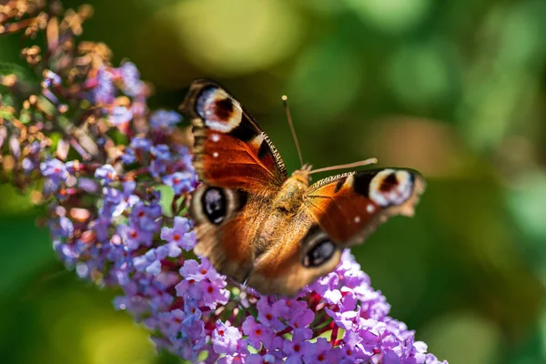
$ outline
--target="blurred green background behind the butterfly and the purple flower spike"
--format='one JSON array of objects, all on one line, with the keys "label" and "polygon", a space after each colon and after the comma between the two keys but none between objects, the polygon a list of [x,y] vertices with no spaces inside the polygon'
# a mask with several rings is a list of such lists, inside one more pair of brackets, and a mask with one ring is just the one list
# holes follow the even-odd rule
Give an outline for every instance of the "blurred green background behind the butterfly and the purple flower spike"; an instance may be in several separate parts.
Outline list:
[{"label": "blurred green background behind the butterfly and the purple flower spike", "polygon": [[[176,108],[197,77],[256,116],[289,170],[378,157],[428,179],[416,217],[354,254],[391,315],[451,364],[546,363],[546,2],[90,1],[84,39]],[[66,1],[66,6],[79,1]],[[0,61],[19,61],[18,36]],[[323,177],[323,176],[319,176]],[[42,210],[0,186],[0,359],[176,363],[57,261]]]}]

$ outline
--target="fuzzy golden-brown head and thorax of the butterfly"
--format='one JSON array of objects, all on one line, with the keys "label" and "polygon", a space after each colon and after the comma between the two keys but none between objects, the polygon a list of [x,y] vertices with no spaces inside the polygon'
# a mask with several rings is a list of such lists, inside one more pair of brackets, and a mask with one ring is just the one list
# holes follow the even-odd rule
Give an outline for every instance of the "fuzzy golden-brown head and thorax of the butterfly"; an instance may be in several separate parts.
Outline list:
[{"label": "fuzzy golden-brown head and thorax of the butterfly", "polygon": [[309,185],[308,167],[302,167],[292,173],[282,184],[273,201],[273,207],[283,212],[295,214],[303,203]]}]

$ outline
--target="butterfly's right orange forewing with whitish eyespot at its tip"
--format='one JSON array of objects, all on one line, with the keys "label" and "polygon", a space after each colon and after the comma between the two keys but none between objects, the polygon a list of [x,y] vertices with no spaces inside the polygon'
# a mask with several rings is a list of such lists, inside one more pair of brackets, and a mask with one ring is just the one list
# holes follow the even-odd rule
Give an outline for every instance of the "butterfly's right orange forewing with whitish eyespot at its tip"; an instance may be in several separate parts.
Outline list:
[{"label": "butterfly's right orange forewing with whitish eyespot at its tip", "polygon": [[413,216],[424,189],[423,177],[410,169],[351,172],[309,187],[304,208],[339,247],[349,247],[390,216]]}]

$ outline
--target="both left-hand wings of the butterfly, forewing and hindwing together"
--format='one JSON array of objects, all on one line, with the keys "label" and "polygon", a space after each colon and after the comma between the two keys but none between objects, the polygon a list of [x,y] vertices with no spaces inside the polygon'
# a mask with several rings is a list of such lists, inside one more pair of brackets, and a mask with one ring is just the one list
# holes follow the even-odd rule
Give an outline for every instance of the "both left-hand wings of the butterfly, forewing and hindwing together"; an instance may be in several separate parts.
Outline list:
[{"label": "both left-hand wings of the butterfly, forewing and hindwing together", "polygon": [[256,230],[287,178],[284,163],[254,118],[216,83],[195,81],[182,110],[191,118],[193,163],[203,182],[189,209],[195,251],[243,281],[252,268]]}]

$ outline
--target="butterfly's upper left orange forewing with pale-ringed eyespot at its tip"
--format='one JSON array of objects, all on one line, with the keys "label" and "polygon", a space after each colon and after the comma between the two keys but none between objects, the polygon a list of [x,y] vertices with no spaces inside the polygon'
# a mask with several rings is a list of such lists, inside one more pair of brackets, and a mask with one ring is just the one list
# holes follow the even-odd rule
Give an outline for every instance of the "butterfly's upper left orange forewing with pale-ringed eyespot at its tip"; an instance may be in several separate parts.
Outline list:
[{"label": "butterfly's upper left orange forewing with pale-ringed eyespot at its tip", "polygon": [[207,185],[274,193],[287,178],[277,149],[243,106],[224,88],[197,80],[182,105],[191,117],[194,167]]}]

